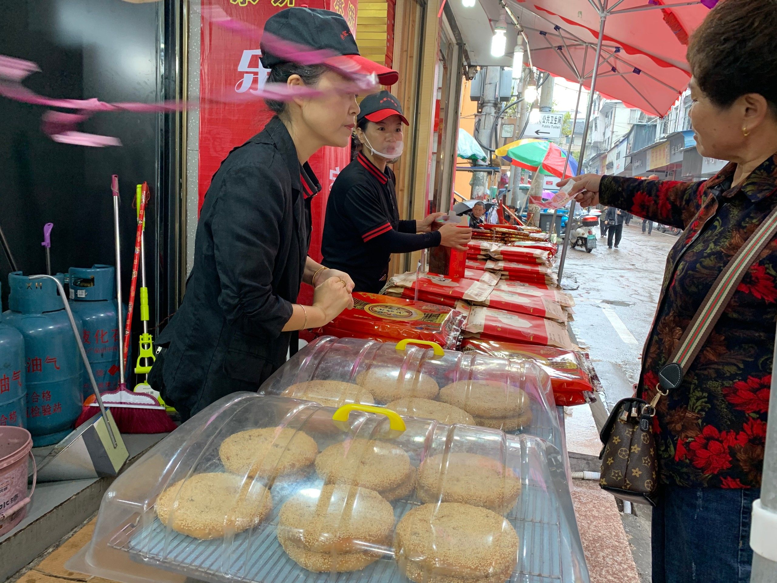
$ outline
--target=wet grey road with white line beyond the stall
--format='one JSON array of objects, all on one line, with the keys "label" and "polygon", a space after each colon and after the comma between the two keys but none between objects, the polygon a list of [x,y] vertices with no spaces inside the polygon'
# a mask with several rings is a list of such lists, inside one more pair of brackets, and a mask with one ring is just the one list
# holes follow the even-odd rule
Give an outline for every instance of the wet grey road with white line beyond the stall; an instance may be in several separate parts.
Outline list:
[{"label": "wet grey road with white line beyond the stall", "polygon": [[[570,249],[566,253],[564,285],[577,280],[571,292],[577,302],[574,333],[598,363],[611,363],[625,373],[629,384],[639,376],[639,358],[653,322],[667,253],[677,237],[653,229],[642,233],[642,220],[624,225],[618,249],[608,249],[607,239],[597,239],[591,253]],[[605,366],[601,368],[607,375]],[[625,379],[624,382],[625,382]],[[605,392],[608,386],[605,382]],[[609,401],[609,399],[608,399]]]}]

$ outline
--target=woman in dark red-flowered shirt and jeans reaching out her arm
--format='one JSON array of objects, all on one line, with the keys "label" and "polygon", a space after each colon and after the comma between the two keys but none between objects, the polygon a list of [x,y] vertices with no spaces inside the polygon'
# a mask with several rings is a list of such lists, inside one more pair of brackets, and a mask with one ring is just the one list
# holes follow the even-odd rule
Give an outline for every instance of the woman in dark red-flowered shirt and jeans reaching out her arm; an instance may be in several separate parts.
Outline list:
[{"label": "woman in dark red-flowered shirt and jeans reaching out her arm", "polygon": [[[713,282],[777,206],[777,2],[724,0],[688,47],[699,153],[730,160],[706,182],[586,174],[584,207],[608,204],[684,229],[667,257],[638,394],[656,394]],[[563,183],[560,183],[563,185]],[[777,240],[737,288],[681,386],[653,417],[662,498],[653,509],[653,581],[750,581],[751,505],[764,458],[777,323]]]}]

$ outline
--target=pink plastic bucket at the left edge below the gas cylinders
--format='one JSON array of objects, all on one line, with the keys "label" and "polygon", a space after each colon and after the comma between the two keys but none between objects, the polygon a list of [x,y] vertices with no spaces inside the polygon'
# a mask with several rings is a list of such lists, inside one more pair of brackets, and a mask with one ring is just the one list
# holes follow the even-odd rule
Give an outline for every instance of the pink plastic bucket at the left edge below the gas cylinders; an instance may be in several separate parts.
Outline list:
[{"label": "pink plastic bucket at the left edge below the gas cylinders", "polygon": [[[0,535],[19,524],[35,491],[37,468],[30,431],[0,426]],[[33,460],[33,489],[27,494],[27,456]]]}]

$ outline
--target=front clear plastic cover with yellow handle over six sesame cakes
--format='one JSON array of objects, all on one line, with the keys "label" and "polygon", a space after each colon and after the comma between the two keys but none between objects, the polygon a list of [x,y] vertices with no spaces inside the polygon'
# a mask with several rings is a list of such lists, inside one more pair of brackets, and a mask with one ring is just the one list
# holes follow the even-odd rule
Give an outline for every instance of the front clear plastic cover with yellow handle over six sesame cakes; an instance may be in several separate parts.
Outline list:
[{"label": "front clear plastic cover with yellow handle over six sesame cakes", "polygon": [[[68,568],[124,583],[589,581],[556,448],[353,407],[213,403],[113,482]],[[262,429],[264,449],[241,433]]]}]

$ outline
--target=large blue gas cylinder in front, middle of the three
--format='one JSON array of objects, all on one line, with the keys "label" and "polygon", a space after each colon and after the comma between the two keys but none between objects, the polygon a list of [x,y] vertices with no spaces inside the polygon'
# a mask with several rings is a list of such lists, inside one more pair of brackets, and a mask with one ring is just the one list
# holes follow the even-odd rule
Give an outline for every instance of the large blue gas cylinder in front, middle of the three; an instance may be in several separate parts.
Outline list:
[{"label": "large blue gas cylinder in front, middle of the three", "polygon": [[30,279],[21,271],[9,274],[8,281],[10,309],[3,323],[24,337],[27,430],[35,447],[52,445],[81,414],[84,366],[54,281]]}]

